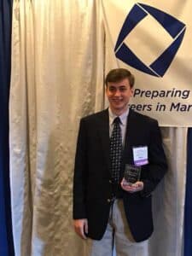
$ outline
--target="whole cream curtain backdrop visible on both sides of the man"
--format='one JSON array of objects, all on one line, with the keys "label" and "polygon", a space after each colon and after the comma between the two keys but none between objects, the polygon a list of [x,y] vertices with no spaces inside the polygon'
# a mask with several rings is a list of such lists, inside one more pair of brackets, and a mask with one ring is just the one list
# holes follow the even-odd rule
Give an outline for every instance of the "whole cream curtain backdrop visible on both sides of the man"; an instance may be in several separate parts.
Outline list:
[{"label": "whole cream curtain backdrop visible on both sides of the man", "polygon": [[[73,231],[80,117],[103,108],[105,38],[99,0],[15,0],[10,183],[16,256],[85,255]],[[169,172],[154,194],[148,256],[182,256],[186,136],[164,128]]]}]

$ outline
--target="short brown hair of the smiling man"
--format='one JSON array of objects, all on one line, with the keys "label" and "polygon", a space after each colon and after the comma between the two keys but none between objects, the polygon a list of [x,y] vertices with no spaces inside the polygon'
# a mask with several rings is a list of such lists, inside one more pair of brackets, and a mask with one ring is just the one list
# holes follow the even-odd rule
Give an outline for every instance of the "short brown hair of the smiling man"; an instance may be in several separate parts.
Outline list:
[{"label": "short brown hair of the smiling man", "polygon": [[108,87],[108,82],[116,83],[116,82],[122,81],[123,79],[128,79],[130,82],[131,88],[133,87],[135,83],[135,78],[131,74],[131,72],[125,68],[115,68],[109,71],[105,79],[105,84]]}]

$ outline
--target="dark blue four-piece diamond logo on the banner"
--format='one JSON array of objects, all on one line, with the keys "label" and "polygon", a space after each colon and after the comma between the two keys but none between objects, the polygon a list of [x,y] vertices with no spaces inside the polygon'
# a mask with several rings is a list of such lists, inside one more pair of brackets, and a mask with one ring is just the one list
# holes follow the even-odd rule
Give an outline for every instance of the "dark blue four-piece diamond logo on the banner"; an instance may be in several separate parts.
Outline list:
[{"label": "dark blue four-piece diamond logo on the banner", "polygon": [[[166,32],[172,37],[172,43],[149,65],[145,64],[135,53],[125,44],[129,41],[130,32],[141,22],[147,15],[153,16],[160,23]],[[114,48],[116,57],[142,71],[156,77],[163,77],[172,60],[177,54],[179,46],[182,44],[186,26],[183,22],[177,20],[172,15],[168,15],[160,9],[155,9],[143,3],[136,3],[127,15],[125,22],[119,32],[119,37]]]}]

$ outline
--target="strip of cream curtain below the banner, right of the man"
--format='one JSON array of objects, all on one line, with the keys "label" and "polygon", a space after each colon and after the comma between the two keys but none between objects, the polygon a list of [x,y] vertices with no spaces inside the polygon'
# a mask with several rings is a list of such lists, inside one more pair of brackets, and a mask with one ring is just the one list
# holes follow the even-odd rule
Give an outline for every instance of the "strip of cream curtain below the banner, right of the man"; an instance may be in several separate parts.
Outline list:
[{"label": "strip of cream curtain below the banner, right of the man", "polygon": [[187,128],[161,131],[169,169],[154,192],[154,234],[149,240],[149,256],[182,256]]}]

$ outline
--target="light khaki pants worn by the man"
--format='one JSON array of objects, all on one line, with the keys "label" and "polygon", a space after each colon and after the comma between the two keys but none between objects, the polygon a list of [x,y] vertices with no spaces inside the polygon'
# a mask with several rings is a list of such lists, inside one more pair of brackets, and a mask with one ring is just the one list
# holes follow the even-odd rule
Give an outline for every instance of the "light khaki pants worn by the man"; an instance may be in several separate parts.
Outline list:
[{"label": "light khaki pants worn by the man", "polygon": [[148,256],[148,240],[133,240],[125,217],[123,201],[115,200],[102,240],[88,239],[87,250],[89,256]]}]

